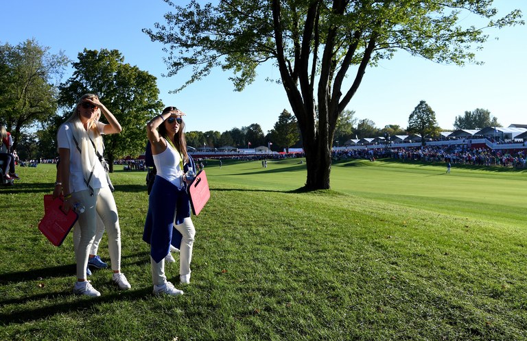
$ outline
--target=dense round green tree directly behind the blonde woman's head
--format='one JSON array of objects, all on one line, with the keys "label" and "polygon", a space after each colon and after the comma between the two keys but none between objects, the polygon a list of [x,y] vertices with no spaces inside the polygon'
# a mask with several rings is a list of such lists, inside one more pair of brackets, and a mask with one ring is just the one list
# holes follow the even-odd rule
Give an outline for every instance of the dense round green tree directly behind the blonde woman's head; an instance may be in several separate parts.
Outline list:
[{"label": "dense round green tree directly behind the blonde woman's head", "polygon": [[104,156],[113,171],[113,160],[145,150],[146,122],[163,109],[156,77],[125,64],[117,50],[84,49],[78,59],[71,78],[60,85],[60,105],[71,110],[82,94],[94,93],[115,115],[121,134],[104,136]]}]

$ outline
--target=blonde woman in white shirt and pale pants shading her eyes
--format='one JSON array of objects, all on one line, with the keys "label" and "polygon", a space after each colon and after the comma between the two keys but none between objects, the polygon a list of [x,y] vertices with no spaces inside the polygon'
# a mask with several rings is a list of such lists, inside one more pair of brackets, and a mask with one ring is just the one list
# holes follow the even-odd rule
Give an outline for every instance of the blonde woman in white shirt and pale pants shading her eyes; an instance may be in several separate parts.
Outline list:
[{"label": "blonde woman in white shirt and pale pants shading her eyes", "polygon": [[[100,110],[108,124],[95,120]],[[60,125],[57,134],[60,156],[60,179],[56,184],[64,197],[63,210],[69,212],[75,203],[81,203],[85,212],[79,214],[80,242],[75,250],[77,262],[77,282],[73,286],[75,294],[100,296],[91,283],[86,280],[86,267],[90,247],[97,230],[97,214],[102,218],[108,232],[108,251],[110,253],[113,282],[121,290],[131,288],[125,275],[121,273],[121,229],[115,199],[106,179],[104,159],[102,159],[102,134],[117,134],[121,125],[99,101],[95,94],[80,97],[75,110],[65,123]]]}]

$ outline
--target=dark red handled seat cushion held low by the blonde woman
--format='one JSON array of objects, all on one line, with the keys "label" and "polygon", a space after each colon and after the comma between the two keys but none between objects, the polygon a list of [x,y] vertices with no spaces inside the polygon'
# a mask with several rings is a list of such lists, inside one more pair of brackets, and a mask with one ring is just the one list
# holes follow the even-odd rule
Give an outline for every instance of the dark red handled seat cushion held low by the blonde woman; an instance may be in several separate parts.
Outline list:
[{"label": "dark red handled seat cushion held low by the blonde woman", "polygon": [[62,212],[62,198],[53,199],[51,194],[44,196],[44,217],[38,223],[38,229],[54,244],[60,247],[66,239],[71,227],[79,218],[77,212],[69,210],[68,214]]}]

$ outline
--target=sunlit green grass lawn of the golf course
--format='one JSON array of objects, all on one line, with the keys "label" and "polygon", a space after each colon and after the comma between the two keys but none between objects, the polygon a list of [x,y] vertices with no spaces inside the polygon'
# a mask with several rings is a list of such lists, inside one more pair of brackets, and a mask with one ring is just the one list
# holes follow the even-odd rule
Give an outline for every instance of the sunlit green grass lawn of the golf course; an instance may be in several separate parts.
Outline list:
[{"label": "sunlit green grass lawn of the golf course", "polygon": [[209,161],[176,298],[151,294],[145,173],[112,175],[132,290],[97,270],[90,299],[71,294],[71,237],[53,247],[37,229],[54,166],[19,168],[0,188],[0,339],[527,339],[525,171],[358,160],[305,193],[298,162]]}]

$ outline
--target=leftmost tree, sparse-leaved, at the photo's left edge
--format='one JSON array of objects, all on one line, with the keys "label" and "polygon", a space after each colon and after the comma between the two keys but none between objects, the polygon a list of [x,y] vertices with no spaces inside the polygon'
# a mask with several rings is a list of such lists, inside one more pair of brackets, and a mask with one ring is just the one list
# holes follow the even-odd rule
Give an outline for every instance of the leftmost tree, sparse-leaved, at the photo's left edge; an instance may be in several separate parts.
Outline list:
[{"label": "leftmost tree, sparse-leaved, at the photo's left edge", "polygon": [[0,122],[11,132],[14,149],[25,130],[56,116],[56,82],[67,64],[62,51],[50,53],[34,39],[0,45]]}]

